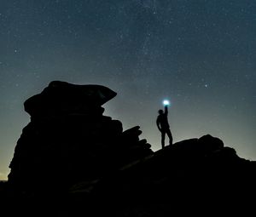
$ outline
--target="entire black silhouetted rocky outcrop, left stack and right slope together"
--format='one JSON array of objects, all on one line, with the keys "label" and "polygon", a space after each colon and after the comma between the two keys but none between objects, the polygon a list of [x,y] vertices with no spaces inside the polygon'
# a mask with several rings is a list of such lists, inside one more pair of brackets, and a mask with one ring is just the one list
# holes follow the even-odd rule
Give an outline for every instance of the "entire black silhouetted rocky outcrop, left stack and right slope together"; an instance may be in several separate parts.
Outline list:
[{"label": "entire black silhouetted rocky outcrop, left stack and right slope together", "polygon": [[25,207],[27,198],[47,197],[25,208],[44,209],[42,216],[171,216],[206,214],[204,208],[234,214],[232,206],[249,204],[255,162],[210,134],[153,152],[138,126],[123,131],[102,115],[115,95],[99,85],[52,82],[26,100],[31,122],[0,192],[23,198]]}]

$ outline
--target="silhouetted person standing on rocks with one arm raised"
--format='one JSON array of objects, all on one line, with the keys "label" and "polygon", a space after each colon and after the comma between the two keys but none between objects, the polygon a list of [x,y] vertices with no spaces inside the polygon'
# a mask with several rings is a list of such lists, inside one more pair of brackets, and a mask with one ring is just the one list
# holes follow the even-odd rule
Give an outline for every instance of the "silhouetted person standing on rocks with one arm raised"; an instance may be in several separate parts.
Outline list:
[{"label": "silhouetted person standing on rocks with one arm raised", "polygon": [[159,116],[156,119],[156,125],[157,128],[160,130],[161,132],[161,145],[162,148],[165,147],[165,140],[166,140],[166,134],[169,137],[169,145],[172,145],[172,133],[170,130],[170,125],[168,123],[168,107],[165,106],[165,111],[161,110],[158,111],[159,112]]}]

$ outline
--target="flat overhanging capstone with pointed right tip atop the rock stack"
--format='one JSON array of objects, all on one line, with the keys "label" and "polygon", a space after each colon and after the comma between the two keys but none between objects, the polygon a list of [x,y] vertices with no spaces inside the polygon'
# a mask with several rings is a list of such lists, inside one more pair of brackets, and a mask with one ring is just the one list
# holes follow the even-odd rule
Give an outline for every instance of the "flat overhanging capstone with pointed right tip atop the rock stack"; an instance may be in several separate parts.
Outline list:
[{"label": "flat overhanging capstone with pointed right tip atop the rock stack", "polygon": [[116,93],[102,85],[76,85],[55,81],[49,83],[41,94],[25,101],[25,111],[32,118],[49,118],[71,113],[100,115],[102,105]]}]

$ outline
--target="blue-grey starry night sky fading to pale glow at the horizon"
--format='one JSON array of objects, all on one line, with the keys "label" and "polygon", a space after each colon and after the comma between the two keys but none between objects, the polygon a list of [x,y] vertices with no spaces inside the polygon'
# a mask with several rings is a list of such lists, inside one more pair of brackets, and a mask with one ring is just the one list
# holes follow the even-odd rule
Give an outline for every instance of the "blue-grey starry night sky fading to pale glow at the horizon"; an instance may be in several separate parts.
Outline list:
[{"label": "blue-grey starry night sky fading to pale glow at the horizon", "polygon": [[256,160],[255,1],[0,3],[0,180],[30,121],[24,101],[52,80],[113,89],[104,114],[141,126],[154,151],[167,98],[174,142],[212,134]]}]

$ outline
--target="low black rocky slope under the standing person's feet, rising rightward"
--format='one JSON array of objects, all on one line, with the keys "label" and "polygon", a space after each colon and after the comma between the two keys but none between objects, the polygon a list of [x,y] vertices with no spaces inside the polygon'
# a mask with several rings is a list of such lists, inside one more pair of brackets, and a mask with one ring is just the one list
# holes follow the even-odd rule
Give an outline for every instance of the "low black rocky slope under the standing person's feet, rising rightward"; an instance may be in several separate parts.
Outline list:
[{"label": "low black rocky slope under the standing person's feet, rising rightward", "polygon": [[92,194],[101,204],[108,201],[106,209],[115,216],[236,214],[239,208],[253,211],[255,172],[256,162],[207,134],[106,177]]}]

